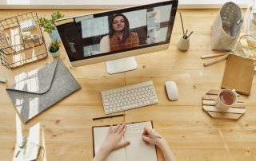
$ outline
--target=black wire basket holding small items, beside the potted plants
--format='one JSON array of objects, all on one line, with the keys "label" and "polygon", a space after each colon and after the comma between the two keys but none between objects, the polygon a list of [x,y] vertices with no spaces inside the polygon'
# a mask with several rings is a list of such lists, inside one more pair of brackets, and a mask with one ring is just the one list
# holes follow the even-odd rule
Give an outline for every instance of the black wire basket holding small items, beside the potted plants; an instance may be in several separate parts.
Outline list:
[{"label": "black wire basket holding small items, beside the potted plants", "polygon": [[[33,37],[24,37],[25,33]],[[0,21],[0,37],[0,59],[7,69],[38,61],[48,55],[36,12]]]}]

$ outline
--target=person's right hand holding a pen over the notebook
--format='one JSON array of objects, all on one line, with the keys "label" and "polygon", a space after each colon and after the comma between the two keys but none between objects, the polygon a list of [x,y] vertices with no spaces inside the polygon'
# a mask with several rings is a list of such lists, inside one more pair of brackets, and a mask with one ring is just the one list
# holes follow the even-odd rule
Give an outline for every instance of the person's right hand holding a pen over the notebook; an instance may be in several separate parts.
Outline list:
[{"label": "person's right hand holding a pen over the notebook", "polygon": [[[161,137],[161,139],[159,138],[150,138],[150,137],[147,137],[146,135],[158,135]],[[142,133],[142,139],[145,143],[151,143],[151,144],[154,144],[158,147],[161,147],[162,146],[162,143],[165,141],[161,135],[158,134],[158,132],[155,132],[154,129],[151,129],[151,128],[144,128],[144,132]]]}]

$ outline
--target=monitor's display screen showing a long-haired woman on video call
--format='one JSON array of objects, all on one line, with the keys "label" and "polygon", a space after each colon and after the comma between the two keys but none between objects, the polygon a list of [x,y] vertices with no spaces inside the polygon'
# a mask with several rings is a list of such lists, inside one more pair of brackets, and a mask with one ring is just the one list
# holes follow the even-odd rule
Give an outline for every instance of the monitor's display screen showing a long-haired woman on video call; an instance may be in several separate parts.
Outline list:
[{"label": "monitor's display screen showing a long-haired woman on video call", "polygon": [[169,43],[174,15],[168,3],[78,16],[57,26],[70,61]]}]

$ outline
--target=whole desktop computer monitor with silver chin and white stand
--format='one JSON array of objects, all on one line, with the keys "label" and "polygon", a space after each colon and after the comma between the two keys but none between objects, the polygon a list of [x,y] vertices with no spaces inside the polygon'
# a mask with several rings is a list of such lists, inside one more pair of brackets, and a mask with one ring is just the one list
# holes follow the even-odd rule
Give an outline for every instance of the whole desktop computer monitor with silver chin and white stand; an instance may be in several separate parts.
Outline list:
[{"label": "whole desktop computer monitor with silver chin and white stand", "polygon": [[63,18],[56,26],[74,67],[106,62],[108,73],[137,69],[133,56],[168,49],[178,1]]}]

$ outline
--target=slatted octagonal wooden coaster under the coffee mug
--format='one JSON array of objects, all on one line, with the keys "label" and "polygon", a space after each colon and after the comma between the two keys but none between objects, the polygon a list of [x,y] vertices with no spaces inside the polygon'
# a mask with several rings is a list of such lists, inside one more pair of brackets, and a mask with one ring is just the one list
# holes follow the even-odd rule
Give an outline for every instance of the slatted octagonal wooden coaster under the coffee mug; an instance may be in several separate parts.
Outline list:
[{"label": "slatted octagonal wooden coaster under the coffee mug", "polygon": [[221,90],[218,89],[210,89],[210,91],[206,92],[206,94],[202,96],[202,109],[213,118],[238,120],[246,112],[245,102],[241,100],[240,95],[237,94],[238,102],[228,111],[222,112],[215,108],[215,100],[220,91]]}]

